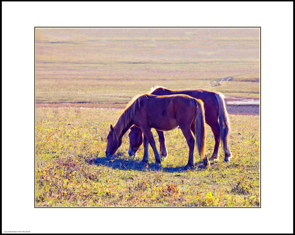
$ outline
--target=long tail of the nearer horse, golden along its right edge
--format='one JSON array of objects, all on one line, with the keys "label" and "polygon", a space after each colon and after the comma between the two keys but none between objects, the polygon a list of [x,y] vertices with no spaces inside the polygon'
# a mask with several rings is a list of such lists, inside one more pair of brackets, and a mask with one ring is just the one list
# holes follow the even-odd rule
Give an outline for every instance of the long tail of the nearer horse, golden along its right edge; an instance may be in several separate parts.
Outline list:
[{"label": "long tail of the nearer horse, golden along its right edge", "polygon": [[198,147],[201,160],[206,158],[206,128],[204,103],[196,99],[196,146]]}]

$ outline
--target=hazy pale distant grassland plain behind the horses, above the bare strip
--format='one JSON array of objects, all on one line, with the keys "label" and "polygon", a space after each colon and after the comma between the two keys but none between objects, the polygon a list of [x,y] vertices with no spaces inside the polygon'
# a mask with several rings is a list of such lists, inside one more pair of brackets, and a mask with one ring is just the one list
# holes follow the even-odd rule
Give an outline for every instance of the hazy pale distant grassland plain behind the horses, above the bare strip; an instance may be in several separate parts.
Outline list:
[{"label": "hazy pale distant grassland plain behind the horses, above the bare strip", "polygon": [[37,103],[126,104],[156,85],[259,98],[259,29],[36,29],[35,45]]}]

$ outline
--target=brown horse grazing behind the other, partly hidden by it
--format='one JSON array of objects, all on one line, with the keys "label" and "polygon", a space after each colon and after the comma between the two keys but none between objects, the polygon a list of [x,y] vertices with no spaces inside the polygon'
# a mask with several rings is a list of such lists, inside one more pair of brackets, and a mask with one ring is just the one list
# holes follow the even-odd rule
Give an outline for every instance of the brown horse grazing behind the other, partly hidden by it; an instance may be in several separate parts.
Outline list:
[{"label": "brown horse grazing behind the other, partly hidden by it", "polygon": [[[165,87],[155,87],[149,92],[153,95],[172,95],[172,94],[186,94],[196,99],[201,99],[204,102],[205,109],[205,120],[206,123],[211,127],[214,134],[215,146],[212,156],[209,158],[210,161],[219,159],[218,149],[220,140],[223,143],[224,149],[224,161],[230,161],[232,153],[230,152],[230,119],[227,114],[224,99],[221,93],[212,92],[204,89],[192,89],[183,91],[172,91]],[[219,120],[219,122],[218,122]],[[164,132],[157,130],[160,142],[160,153],[163,159],[167,158],[167,149],[165,146]],[[129,155],[135,155],[138,148],[145,142],[145,138],[142,140],[142,131],[140,128],[133,126],[129,133],[130,148]],[[144,154],[148,154],[146,151]],[[145,158],[148,156],[144,156]]]}]

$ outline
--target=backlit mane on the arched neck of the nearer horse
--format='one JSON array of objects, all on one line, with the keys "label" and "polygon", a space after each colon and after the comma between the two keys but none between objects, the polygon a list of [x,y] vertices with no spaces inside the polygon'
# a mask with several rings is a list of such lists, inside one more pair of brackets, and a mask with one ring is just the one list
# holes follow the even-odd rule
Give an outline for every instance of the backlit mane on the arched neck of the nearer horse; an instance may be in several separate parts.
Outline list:
[{"label": "backlit mane on the arched neck of the nearer horse", "polygon": [[138,106],[140,108],[140,101],[142,100],[143,97],[148,99],[148,95],[150,95],[150,94],[136,95],[128,102],[125,109],[121,113],[116,126],[114,127],[114,133],[113,133],[114,138],[116,138],[117,140],[119,139],[119,137],[122,134],[122,131],[125,128],[127,128],[129,123],[131,122],[133,115],[135,113],[135,110],[136,110],[136,105],[138,104]]}]

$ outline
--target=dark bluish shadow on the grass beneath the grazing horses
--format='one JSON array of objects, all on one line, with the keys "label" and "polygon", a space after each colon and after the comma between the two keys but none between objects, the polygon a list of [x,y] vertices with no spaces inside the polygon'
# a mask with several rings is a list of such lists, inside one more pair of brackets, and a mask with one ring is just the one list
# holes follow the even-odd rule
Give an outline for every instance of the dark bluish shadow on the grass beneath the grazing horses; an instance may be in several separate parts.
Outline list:
[{"label": "dark bluish shadow on the grass beneath the grazing horses", "polygon": [[[141,163],[141,160],[138,157],[124,156],[120,153],[115,154],[113,157],[96,157],[91,159],[88,163],[95,164],[97,166],[110,167],[112,169],[120,169],[125,171],[163,171],[163,172],[185,172],[185,166],[180,167],[157,167],[154,165],[154,162],[151,163]],[[201,170],[203,169],[203,161],[195,163],[195,167],[191,167],[189,170]]]}]

